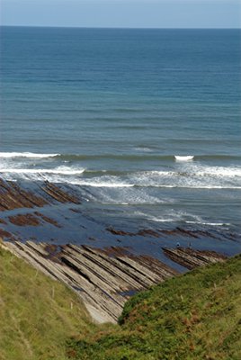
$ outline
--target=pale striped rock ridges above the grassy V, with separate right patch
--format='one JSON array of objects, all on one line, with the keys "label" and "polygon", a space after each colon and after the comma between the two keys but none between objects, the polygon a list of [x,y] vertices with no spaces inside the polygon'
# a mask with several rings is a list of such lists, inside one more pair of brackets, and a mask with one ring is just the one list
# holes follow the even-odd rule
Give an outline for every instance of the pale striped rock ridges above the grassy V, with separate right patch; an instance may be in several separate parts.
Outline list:
[{"label": "pale striped rock ridges above the grassy V, with separate right patch", "polygon": [[[56,247],[32,241],[4,242],[4,247],[44,274],[67,284],[79,294],[95,320],[116,322],[131,294],[178,275],[174,268],[152,257],[133,256],[121,247],[98,249],[74,244]],[[207,251],[187,248],[164,251],[187,268],[224,260]]]}]

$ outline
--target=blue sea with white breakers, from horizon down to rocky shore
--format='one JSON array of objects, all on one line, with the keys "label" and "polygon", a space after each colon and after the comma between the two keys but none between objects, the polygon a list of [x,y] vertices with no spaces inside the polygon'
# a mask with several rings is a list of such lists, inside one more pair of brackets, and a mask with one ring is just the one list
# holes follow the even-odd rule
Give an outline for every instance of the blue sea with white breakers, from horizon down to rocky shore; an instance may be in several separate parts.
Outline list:
[{"label": "blue sea with white breakers, from horizon down to rocky shore", "polygon": [[240,30],[1,28],[0,175],[107,225],[239,231]]}]

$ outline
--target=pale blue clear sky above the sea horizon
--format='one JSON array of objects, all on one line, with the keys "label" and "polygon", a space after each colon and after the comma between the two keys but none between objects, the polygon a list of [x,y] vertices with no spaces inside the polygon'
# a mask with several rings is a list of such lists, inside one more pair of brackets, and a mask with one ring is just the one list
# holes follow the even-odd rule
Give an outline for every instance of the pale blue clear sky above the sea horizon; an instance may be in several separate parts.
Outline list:
[{"label": "pale blue clear sky above the sea horizon", "polygon": [[240,28],[241,0],[1,0],[1,24]]}]

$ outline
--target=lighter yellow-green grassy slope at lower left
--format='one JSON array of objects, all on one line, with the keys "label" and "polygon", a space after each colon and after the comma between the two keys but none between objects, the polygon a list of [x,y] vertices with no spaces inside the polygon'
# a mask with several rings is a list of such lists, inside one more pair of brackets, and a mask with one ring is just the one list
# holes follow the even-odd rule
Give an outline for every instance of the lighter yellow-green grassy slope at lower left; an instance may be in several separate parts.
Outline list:
[{"label": "lighter yellow-green grassy slope at lower left", "polygon": [[93,329],[75,293],[0,247],[1,360],[66,359],[66,339]]}]

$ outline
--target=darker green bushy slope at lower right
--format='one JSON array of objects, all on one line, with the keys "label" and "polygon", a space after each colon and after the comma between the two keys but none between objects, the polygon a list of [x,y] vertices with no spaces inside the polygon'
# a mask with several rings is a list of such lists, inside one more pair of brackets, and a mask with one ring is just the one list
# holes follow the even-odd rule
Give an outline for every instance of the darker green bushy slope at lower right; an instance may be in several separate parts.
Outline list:
[{"label": "darker green bushy slope at lower right", "polygon": [[241,257],[139,293],[120,324],[73,338],[69,358],[241,359]]}]

